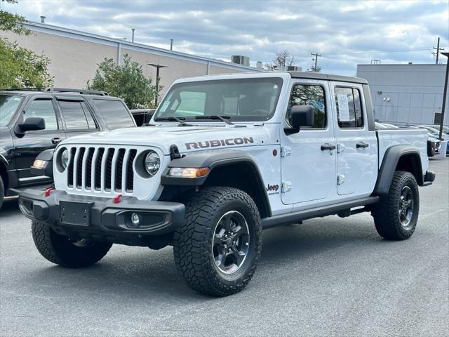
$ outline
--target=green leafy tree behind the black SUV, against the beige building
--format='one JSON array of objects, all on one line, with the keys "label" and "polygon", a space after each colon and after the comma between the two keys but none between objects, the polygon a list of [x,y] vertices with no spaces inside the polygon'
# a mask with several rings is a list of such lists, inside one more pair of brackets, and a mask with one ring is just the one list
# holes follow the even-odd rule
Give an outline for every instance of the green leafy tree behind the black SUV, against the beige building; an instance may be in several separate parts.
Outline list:
[{"label": "green leafy tree behind the black SUV, against the beige building", "polygon": [[105,58],[98,65],[92,84],[88,81],[87,87],[122,98],[130,109],[154,107],[156,86],[152,85],[151,78],[145,77],[142,66],[132,61],[128,54],[123,56],[123,65]]}]

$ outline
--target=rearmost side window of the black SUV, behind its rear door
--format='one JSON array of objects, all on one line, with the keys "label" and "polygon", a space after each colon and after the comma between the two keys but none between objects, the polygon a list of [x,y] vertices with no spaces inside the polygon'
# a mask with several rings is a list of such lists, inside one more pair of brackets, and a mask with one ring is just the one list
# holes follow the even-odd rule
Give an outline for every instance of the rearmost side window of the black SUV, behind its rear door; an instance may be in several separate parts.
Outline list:
[{"label": "rearmost side window of the black SUV, behind its rear door", "polygon": [[107,128],[132,128],[135,126],[133,117],[130,116],[126,106],[121,100],[93,100],[98,113],[105,121]]}]

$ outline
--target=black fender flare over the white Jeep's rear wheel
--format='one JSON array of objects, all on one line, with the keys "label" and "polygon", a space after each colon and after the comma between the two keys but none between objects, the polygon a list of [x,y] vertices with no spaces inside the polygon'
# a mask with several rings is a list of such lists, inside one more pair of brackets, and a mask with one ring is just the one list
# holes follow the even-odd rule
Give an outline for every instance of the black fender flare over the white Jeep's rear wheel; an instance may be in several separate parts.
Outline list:
[{"label": "black fender flare over the white Jeep's rear wheel", "polygon": [[388,193],[399,159],[405,155],[413,156],[413,161],[415,162],[415,167],[413,169],[417,172],[417,183],[420,186],[424,185],[420,149],[413,145],[394,145],[389,147],[384,154],[382,165],[380,166],[379,173],[377,174],[374,194]]}]

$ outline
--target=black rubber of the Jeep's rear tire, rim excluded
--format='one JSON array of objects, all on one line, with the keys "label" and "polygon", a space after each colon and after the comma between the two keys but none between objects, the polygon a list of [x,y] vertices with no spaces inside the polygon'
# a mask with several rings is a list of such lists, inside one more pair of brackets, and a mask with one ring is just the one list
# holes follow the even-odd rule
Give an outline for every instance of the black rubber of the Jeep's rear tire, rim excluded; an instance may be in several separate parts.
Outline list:
[{"label": "black rubber of the Jeep's rear tire, rim excluded", "polygon": [[[404,227],[400,220],[401,192],[408,187],[413,193],[413,216],[410,223]],[[371,214],[377,232],[389,240],[405,240],[415,232],[418,214],[420,213],[420,194],[418,185],[412,173],[396,171],[391,181],[389,192],[380,196],[380,201],[374,206]]]}]

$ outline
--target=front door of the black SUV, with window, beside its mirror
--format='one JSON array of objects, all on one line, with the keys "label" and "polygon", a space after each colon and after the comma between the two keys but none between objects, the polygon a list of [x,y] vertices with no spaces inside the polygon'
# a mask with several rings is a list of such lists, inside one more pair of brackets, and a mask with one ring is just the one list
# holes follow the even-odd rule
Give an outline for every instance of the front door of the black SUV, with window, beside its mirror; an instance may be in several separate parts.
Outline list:
[{"label": "front door of the black SUV, with window, beside its mirror", "polygon": [[22,123],[29,117],[41,117],[45,120],[45,130],[25,131],[24,134],[15,133],[15,169],[18,173],[18,185],[34,185],[51,182],[48,177],[36,177],[30,172],[37,155],[44,150],[52,149],[65,139],[65,132],[60,126],[60,120],[55,112],[51,96],[39,96],[32,99],[25,106],[16,124]]}]

